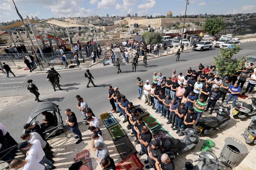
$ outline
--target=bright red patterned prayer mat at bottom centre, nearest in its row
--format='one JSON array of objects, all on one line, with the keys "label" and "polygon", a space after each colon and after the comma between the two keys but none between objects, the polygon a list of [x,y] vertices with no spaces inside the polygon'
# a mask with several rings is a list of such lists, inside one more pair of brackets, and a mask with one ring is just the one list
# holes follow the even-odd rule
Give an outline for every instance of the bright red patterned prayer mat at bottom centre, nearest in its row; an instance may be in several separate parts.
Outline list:
[{"label": "bright red patterned prayer mat at bottom centre, nearest in its row", "polygon": [[116,170],[140,170],[143,164],[140,162],[136,154],[132,154],[126,159],[116,164]]}]

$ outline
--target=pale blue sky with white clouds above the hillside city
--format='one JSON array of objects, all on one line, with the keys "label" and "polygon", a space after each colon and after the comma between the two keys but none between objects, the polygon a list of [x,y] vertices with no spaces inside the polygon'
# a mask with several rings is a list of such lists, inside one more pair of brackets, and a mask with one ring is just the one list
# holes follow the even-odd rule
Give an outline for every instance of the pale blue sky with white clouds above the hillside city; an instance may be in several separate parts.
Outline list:
[{"label": "pale blue sky with white clouds above the hillside city", "polygon": [[[184,15],[184,0],[14,0],[19,13],[37,16],[39,19],[50,17],[138,16]],[[187,14],[235,14],[255,13],[256,0],[189,0]],[[0,0],[0,22],[19,19],[12,0]]]}]

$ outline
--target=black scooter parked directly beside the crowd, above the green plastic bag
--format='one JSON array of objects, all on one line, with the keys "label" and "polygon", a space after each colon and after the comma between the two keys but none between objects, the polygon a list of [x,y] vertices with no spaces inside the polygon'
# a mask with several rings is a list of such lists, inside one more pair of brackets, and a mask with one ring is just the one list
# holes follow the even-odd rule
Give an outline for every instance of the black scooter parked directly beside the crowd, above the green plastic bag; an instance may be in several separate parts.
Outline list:
[{"label": "black scooter parked directly beside the crowd, above the green plastic bag", "polygon": [[223,106],[217,102],[219,106],[215,108],[217,116],[205,116],[198,118],[198,130],[196,133],[199,135],[207,135],[215,133],[218,128],[225,127],[230,120],[230,106]]}]

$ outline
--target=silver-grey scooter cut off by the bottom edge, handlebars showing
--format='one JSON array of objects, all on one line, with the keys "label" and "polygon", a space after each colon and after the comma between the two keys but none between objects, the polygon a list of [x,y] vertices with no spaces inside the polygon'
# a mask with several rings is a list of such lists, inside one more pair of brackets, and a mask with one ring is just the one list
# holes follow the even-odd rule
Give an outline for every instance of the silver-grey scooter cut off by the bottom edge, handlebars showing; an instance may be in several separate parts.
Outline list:
[{"label": "silver-grey scooter cut off by the bottom edge, handlebars showing", "polygon": [[198,162],[195,166],[191,162],[186,162],[186,167],[183,170],[219,170],[221,167],[225,169],[225,165],[219,162],[219,158],[211,152],[201,152],[199,155],[192,153],[193,155],[199,156],[195,162]]}]

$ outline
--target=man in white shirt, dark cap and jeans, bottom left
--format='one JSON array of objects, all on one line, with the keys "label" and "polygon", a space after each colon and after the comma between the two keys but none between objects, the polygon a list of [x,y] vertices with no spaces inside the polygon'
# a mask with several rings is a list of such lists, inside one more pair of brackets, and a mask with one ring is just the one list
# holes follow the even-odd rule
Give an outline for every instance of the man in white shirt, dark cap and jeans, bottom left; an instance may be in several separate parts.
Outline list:
[{"label": "man in white shirt, dark cap and jeans, bottom left", "polygon": [[27,151],[27,156],[32,156],[35,158],[39,164],[42,164],[45,167],[45,170],[49,170],[45,164],[49,166],[50,169],[54,169],[55,166],[52,162],[45,157],[45,153],[43,152],[42,146],[39,140],[34,140],[33,143],[22,142],[18,145],[19,149],[29,150]]}]

